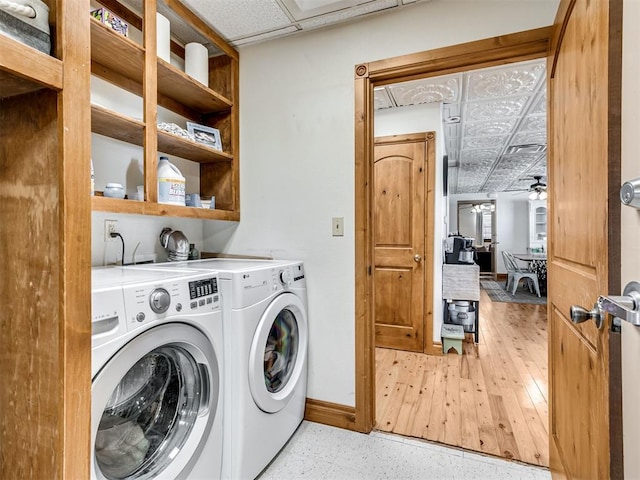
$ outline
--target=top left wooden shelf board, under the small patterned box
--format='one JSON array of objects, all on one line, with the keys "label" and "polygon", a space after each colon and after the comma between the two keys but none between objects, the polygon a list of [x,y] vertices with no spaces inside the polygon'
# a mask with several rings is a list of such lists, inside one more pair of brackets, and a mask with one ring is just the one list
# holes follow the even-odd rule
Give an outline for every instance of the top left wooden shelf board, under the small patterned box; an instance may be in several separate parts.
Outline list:
[{"label": "top left wooden shelf board, under the small patterned box", "polygon": [[91,19],[91,60],[142,84],[144,48],[127,37]]}]

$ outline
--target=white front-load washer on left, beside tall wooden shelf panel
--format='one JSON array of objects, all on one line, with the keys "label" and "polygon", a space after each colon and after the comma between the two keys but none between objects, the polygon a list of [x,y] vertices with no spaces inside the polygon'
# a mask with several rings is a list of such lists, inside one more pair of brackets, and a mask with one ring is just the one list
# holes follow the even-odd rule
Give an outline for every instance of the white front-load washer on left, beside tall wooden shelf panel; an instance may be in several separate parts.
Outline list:
[{"label": "white front-load washer on left, beside tall wooden shelf panel", "polygon": [[220,478],[218,276],[92,269],[91,478]]}]

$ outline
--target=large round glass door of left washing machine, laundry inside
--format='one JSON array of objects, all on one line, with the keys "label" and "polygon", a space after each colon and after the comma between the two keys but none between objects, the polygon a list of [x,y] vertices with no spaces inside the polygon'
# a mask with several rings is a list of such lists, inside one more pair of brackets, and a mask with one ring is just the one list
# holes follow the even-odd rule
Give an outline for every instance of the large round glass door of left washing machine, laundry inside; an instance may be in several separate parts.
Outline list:
[{"label": "large round glass door of left washing machine, laundry inside", "polygon": [[[208,435],[203,431],[210,428],[219,391],[215,353],[207,351],[205,340],[195,343],[200,332],[180,335],[162,328],[125,345],[94,379],[97,478],[141,480],[182,472]],[[161,341],[166,338],[176,340]]]}]

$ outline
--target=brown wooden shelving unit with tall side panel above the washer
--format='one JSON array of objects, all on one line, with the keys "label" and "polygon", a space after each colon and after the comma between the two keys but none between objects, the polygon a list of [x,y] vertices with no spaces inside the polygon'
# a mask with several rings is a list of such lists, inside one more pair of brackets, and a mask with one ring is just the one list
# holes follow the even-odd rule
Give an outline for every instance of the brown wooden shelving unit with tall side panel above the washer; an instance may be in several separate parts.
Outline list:
[{"label": "brown wooden shelving unit with tall side panel above the washer", "polygon": [[[239,220],[239,57],[182,3],[164,0],[219,46],[205,87],[92,19],[88,0],[44,2],[52,55],[0,35],[0,244],[11,252],[0,263],[11,279],[0,290],[0,405],[12,406],[0,414],[0,478],[80,479],[91,476],[91,211]],[[144,5],[138,25],[155,45],[156,3]],[[218,128],[224,152],[90,105],[92,73],[141,96],[145,119],[162,105]],[[147,201],[90,197],[92,131],[142,147]],[[199,163],[200,193],[215,195],[217,209],[157,203],[149,172],[160,153]]]}]

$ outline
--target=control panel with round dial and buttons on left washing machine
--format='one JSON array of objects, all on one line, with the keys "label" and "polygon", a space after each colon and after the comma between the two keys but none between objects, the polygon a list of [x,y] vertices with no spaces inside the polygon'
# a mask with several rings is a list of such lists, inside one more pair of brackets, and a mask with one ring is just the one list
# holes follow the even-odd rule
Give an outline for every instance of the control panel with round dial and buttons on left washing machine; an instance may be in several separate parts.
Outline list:
[{"label": "control panel with round dial and buttons on left washing machine", "polygon": [[123,287],[127,329],[221,308],[218,277],[211,273]]}]

